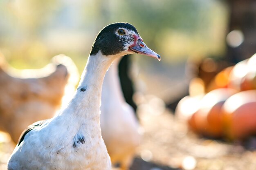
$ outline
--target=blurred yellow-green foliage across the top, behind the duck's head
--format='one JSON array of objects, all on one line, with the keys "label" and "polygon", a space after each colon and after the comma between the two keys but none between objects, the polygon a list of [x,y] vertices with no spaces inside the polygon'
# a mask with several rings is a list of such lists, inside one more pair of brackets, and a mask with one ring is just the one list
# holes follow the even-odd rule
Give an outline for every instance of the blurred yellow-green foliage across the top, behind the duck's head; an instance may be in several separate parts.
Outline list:
[{"label": "blurred yellow-green foliage across the top, behind the duck's head", "polygon": [[216,0],[0,1],[0,15],[0,51],[19,68],[42,67],[64,53],[82,70],[79,60],[87,60],[98,31],[112,22],[135,25],[165,61],[225,50],[227,9]]}]

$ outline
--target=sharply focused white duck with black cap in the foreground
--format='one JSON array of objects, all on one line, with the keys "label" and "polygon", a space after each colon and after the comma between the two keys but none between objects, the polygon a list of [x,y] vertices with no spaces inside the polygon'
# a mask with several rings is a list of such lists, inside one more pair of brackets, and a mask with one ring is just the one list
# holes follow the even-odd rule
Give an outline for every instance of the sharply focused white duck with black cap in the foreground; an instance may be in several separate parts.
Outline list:
[{"label": "sharply focused white duck with black cap in the foreground", "polygon": [[101,29],[70,102],[55,117],[23,131],[7,169],[111,170],[99,118],[103,78],[115,59],[133,53],[160,60],[131,24],[117,22]]}]

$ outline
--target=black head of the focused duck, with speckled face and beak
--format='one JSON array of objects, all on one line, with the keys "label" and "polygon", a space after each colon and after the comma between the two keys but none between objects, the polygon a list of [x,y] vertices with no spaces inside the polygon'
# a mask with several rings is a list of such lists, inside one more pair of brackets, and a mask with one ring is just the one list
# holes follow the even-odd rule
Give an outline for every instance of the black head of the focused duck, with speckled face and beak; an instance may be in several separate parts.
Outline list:
[{"label": "black head of the focused duck, with speckled face and beak", "polygon": [[107,25],[99,32],[90,55],[96,55],[99,51],[106,56],[139,53],[161,60],[160,55],[146,46],[136,28],[124,22]]}]

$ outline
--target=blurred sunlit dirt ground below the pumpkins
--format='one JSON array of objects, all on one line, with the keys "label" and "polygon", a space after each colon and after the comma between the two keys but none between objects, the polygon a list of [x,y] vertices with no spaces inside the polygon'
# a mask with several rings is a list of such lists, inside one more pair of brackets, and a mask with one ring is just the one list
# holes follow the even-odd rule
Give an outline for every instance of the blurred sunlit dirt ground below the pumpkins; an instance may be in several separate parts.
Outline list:
[{"label": "blurred sunlit dirt ground below the pumpkins", "polygon": [[[130,170],[256,170],[256,151],[239,144],[203,139],[154,96],[141,99],[138,116],[144,137]],[[0,170],[13,150],[6,134],[0,134]]]}]

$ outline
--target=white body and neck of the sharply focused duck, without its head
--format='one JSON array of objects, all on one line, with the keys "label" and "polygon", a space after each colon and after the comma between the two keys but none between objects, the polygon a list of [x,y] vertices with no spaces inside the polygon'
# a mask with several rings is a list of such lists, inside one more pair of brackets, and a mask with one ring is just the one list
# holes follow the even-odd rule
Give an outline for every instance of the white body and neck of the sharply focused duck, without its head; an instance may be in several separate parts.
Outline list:
[{"label": "white body and neck of the sharply focused duck, without its head", "polygon": [[[88,65],[94,64],[88,69],[107,70],[108,66],[105,65],[98,68],[101,67],[98,62],[101,62],[102,57],[100,53],[90,57]],[[111,64],[111,60],[109,62]],[[98,85],[98,81],[103,81],[104,73],[95,77],[95,72],[92,75],[87,70],[84,72],[86,79],[81,81],[70,104],[56,117],[35,126],[25,134],[11,156],[8,170],[87,170],[86,167],[89,167],[88,170],[111,169],[99,124],[102,87]]]}]

